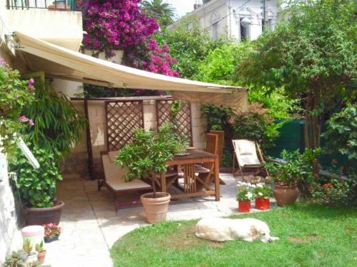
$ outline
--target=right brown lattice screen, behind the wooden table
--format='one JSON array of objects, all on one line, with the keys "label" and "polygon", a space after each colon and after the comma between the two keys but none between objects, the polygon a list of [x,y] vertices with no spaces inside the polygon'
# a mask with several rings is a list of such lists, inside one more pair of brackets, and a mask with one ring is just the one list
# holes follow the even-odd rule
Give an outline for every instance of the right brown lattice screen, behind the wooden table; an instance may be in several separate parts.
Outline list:
[{"label": "right brown lattice screen, behind the wooden table", "polygon": [[[181,106],[180,111],[175,117],[172,116],[171,105],[174,100],[156,100],[156,122],[159,127],[164,122],[172,122],[176,125],[176,131],[183,137],[188,137],[191,145],[192,140],[192,121],[191,121],[191,105],[185,103]],[[175,122],[176,120],[176,122]]]}]

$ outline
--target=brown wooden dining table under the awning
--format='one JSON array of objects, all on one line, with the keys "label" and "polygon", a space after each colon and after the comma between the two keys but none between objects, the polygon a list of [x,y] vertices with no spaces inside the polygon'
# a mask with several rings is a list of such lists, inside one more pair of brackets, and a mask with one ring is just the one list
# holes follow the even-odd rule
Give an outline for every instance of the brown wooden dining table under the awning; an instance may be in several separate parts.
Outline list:
[{"label": "brown wooden dining table under the awning", "polygon": [[[180,165],[183,169],[183,194],[171,195],[171,199],[181,199],[183,197],[215,196],[219,201],[219,163],[218,155],[208,153],[203,150],[187,150],[189,155],[175,156],[168,160],[168,166]],[[195,174],[195,164],[207,164],[211,173]],[[176,182],[178,177],[166,180],[166,173],[160,174],[161,191],[167,192],[167,187]],[[211,182],[214,182],[214,189],[211,188]]]}]

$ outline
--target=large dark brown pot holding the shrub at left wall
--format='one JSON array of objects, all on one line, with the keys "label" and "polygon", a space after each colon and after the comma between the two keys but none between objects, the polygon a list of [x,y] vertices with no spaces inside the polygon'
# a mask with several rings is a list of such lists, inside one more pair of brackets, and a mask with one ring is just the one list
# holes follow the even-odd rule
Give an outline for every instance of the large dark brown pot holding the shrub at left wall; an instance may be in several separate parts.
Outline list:
[{"label": "large dark brown pot holding the shrub at left wall", "polygon": [[59,224],[59,221],[61,221],[61,212],[63,207],[63,201],[56,201],[55,205],[49,208],[26,208],[26,224]]}]

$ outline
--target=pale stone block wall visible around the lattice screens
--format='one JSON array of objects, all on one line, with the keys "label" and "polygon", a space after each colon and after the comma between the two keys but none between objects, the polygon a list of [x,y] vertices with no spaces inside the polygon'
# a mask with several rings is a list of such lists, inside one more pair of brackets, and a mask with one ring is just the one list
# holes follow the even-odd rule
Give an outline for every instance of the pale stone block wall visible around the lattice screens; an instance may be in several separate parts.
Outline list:
[{"label": "pale stone block wall visible around the lattice screens", "polygon": [[[156,128],[156,98],[139,97],[144,106],[144,128]],[[115,99],[115,98],[111,98]],[[120,98],[117,98],[120,99]],[[77,108],[84,110],[83,101],[72,101]],[[88,101],[89,127],[91,132],[91,147],[94,168],[101,172],[100,152],[106,150],[106,112],[104,100]],[[201,116],[201,108],[198,103],[191,103],[193,146],[205,147],[206,123]],[[86,136],[79,145],[74,147],[73,152],[62,164],[61,170],[65,173],[77,173],[82,177],[88,175],[88,155],[86,152]]]}]

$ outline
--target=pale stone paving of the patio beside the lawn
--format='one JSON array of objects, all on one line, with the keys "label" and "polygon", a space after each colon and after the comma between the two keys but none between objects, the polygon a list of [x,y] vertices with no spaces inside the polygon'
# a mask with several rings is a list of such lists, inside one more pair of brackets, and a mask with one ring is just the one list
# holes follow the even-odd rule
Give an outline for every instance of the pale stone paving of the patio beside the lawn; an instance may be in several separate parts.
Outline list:
[{"label": "pale stone paving of the patio beside the lawn", "polygon": [[[206,216],[238,214],[236,182],[231,174],[221,174],[221,201],[214,197],[171,201],[169,220],[200,219]],[[114,197],[105,188],[97,191],[96,181],[67,175],[59,183],[58,199],[65,202],[59,241],[46,244],[46,263],[53,267],[112,266],[109,248],[139,226],[147,225],[141,206],[114,209]],[[254,211],[254,209],[253,209]]]}]

